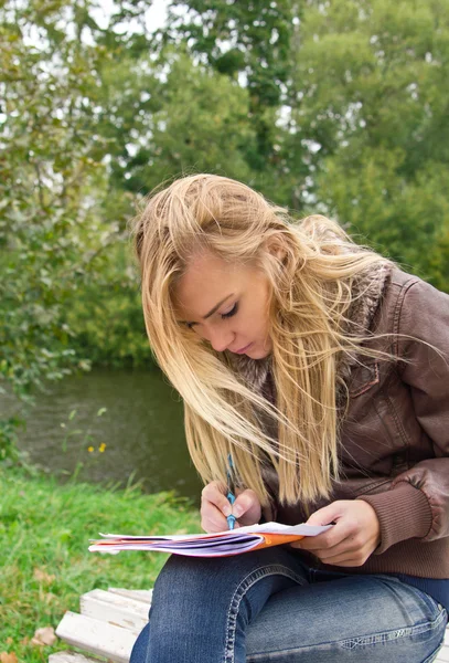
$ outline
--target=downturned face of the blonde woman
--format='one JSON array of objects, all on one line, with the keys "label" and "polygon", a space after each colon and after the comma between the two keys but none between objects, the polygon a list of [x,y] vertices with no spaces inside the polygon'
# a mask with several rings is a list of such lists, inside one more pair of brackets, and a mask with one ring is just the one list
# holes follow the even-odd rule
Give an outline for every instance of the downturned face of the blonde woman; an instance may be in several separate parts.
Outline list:
[{"label": "downturned face of the blonde woman", "polygon": [[178,283],[174,303],[180,323],[214,350],[252,359],[270,354],[269,285],[259,270],[202,253]]}]

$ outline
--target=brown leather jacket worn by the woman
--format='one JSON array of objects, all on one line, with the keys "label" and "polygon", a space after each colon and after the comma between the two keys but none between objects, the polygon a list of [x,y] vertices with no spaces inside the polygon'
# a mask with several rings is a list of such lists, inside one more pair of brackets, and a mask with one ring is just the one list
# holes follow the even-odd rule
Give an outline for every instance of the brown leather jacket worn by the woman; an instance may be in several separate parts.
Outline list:
[{"label": "brown leather jacket worn by the woman", "polygon": [[[371,346],[397,360],[364,359],[351,371],[342,478],[330,502],[368,502],[382,540],[362,567],[342,570],[449,578],[449,295],[395,269],[371,330],[387,335]],[[301,505],[279,504],[276,482],[271,473],[267,516],[286,524],[307,519]]]}]

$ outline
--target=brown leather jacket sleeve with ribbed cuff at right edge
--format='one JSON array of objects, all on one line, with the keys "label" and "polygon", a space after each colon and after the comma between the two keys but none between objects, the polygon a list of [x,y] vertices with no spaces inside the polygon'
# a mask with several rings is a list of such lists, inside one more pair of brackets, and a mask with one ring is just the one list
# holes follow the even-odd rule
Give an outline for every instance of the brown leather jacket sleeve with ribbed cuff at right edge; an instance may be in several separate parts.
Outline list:
[{"label": "brown leather jacket sleeve with ribbed cuff at right edge", "polygon": [[449,295],[414,281],[396,311],[396,330],[397,351],[406,360],[402,380],[435,457],[396,476],[385,493],[359,497],[379,519],[376,555],[408,538],[449,536]]}]

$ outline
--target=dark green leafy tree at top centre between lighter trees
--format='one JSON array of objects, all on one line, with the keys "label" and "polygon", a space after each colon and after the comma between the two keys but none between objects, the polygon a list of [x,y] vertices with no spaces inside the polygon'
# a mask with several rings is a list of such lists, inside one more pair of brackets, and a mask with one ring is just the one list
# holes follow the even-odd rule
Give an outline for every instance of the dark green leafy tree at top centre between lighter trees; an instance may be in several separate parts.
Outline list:
[{"label": "dark green leafy tree at top centre between lighter trees", "polygon": [[[179,8],[186,8],[186,13]],[[290,75],[290,38],[298,20],[291,0],[173,0],[165,40],[190,51],[213,70],[248,91],[248,116],[256,144],[248,145],[248,166],[257,175],[278,159],[276,110],[285,101]]]}]

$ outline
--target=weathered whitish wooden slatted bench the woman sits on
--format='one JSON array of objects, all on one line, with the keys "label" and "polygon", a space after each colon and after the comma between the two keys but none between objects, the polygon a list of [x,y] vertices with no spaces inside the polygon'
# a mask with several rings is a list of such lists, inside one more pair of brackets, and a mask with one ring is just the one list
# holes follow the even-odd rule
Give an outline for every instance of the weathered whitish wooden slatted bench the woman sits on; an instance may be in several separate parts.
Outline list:
[{"label": "weathered whitish wooden slatted bench the woman sits on", "polygon": [[[81,597],[81,614],[66,612],[56,635],[86,652],[57,652],[49,663],[99,663],[100,656],[128,663],[136,638],[148,622],[152,590],[94,589]],[[367,662],[368,663],[368,662]],[[449,663],[449,630],[435,663]]]}]

